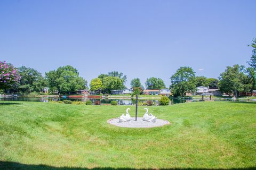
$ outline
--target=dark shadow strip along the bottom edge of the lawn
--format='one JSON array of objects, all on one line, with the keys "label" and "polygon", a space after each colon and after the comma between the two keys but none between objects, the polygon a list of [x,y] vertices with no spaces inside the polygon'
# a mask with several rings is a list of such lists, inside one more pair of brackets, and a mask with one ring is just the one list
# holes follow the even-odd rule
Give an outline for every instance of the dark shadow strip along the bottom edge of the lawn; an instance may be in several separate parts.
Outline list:
[{"label": "dark shadow strip along the bottom edge of the lawn", "polygon": [[[12,169],[29,169],[29,170],[34,170],[34,169],[39,169],[39,170],[137,170],[135,168],[111,168],[111,167],[106,167],[106,168],[79,168],[79,167],[54,167],[54,166],[48,166],[48,165],[27,165],[27,164],[20,164],[20,163],[15,163],[15,162],[4,162],[0,161],[0,169],[1,170],[12,170]],[[159,170],[204,170],[204,169],[213,169],[213,170],[221,170],[221,169],[237,169],[237,170],[252,170],[256,169],[256,167],[249,167],[249,168],[164,168],[164,169],[159,169]],[[150,169],[139,169],[139,170],[150,170]],[[153,169],[152,169],[153,170]]]}]

